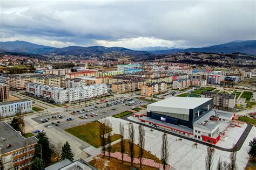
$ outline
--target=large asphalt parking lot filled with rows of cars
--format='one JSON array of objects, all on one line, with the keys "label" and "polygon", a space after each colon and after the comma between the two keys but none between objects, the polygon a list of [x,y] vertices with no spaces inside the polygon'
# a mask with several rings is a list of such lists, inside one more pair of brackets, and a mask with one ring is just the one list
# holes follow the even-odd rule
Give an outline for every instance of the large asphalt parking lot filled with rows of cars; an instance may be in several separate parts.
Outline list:
[{"label": "large asphalt parking lot filled with rows of cars", "polygon": [[137,98],[118,97],[102,103],[93,103],[65,112],[58,112],[51,115],[42,115],[32,118],[39,124],[44,124],[45,128],[67,129],[87,122],[97,121],[104,117],[113,116],[120,112],[137,108],[140,105],[149,104]]}]

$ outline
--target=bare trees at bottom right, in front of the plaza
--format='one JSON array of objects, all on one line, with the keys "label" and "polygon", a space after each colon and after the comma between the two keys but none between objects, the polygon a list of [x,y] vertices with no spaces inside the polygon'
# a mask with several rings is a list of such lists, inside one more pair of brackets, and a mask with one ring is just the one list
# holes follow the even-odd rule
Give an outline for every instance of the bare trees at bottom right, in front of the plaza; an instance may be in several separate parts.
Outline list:
[{"label": "bare trees at bottom right, in front of the plaza", "polygon": [[[212,169],[213,160],[214,160],[214,148],[211,146],[208,146],[207,154],[205,157],[206,170]],[[237,152],[235,152],[235,147],[233,147],[233,151],[230,153],[230,162],[221,161],[221,158],[219,158],[219,161],[217,164],[217,170],[235,170],[237,169],[236,161],[237,161]]]}]

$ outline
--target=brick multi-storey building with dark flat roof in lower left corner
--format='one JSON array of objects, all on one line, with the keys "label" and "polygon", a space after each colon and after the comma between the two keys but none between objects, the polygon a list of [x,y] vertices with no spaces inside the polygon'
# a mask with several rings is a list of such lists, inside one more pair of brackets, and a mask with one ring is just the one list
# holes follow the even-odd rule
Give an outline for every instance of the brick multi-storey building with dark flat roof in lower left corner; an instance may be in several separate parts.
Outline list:
[{"label": "brick multi-storey building with dark flat roof in lower left corner", "polygon": [[5,122],[0,122],[0,169],[29,169],[38,139],[24,138]]}]

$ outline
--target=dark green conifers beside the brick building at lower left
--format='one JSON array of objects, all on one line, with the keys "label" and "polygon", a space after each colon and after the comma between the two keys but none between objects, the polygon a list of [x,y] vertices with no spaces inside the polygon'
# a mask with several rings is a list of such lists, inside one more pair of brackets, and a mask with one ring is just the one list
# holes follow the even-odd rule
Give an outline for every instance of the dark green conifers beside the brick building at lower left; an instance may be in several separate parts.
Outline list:
[{"label": "dark green conifers beside the brick building at lower left", "polygon": [[55,155],[56,161],[64,159],[73,161],[73,153],[68,141],[60,149],[59,146],[55,147],[50,144],[45,132],[39,132],[36,137],[38,141],[35,146],[31,169],[42,170],[44,167],[49,166],[53,154]]}]

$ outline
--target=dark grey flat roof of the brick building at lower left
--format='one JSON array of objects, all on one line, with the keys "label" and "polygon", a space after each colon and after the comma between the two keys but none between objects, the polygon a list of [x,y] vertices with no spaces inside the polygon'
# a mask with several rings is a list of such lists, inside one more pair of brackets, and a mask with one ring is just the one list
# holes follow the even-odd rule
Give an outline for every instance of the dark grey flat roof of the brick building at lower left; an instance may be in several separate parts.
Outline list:
[{"label": "dark grey flat roof of the brick building at lower left", "polygon": [[[5,122],[0,122],[0,148],[2,148],[2,154],[18,150],[19,148],[37,143],[37,138],[32,136],[24,138],[18,131],[11,128]],[[8,145],[10,147],[7,147]]]}]

